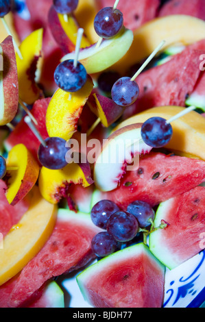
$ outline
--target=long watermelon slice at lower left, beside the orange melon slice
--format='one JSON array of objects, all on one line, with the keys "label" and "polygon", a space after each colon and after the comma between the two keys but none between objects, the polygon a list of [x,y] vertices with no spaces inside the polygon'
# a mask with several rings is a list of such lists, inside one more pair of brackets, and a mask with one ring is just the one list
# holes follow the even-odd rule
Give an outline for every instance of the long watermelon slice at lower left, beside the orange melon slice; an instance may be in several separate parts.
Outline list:
[{"label": "long watermelon slice at lower left, beside the orange melon slice", "polygon": [[23,306],[47,280],[84,267],[95,258],[91,240],[99,231],[90,214],[59,210],[51,237],[21,271],[8,306]]}]

